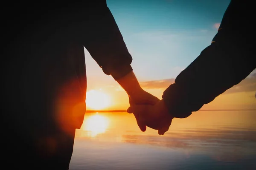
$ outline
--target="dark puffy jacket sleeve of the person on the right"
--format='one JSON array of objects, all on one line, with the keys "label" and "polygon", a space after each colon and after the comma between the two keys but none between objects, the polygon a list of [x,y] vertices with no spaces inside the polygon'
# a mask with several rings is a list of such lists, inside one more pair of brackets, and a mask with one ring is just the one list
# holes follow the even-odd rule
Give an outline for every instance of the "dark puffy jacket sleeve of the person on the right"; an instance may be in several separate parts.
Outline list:
[{"label": "dark puffy jacket sleeve of the person on the right", "polygon": [[211,45],[164,91],[163,100],[174,117],[198,111],[256,68],[250,6],[231,0]]}]

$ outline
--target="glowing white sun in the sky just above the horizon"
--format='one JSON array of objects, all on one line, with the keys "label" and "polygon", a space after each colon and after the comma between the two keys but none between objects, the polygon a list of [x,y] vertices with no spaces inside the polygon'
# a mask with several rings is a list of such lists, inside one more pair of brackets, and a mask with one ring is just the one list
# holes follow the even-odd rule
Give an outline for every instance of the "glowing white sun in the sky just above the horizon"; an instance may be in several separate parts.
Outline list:
[{"label": "glowing white sun in the sky just above the horizon", "polygon": [[86,93],[86,105],[93,110],[107,108],[111,104],[111,98],[103,91],[90,90]]}]

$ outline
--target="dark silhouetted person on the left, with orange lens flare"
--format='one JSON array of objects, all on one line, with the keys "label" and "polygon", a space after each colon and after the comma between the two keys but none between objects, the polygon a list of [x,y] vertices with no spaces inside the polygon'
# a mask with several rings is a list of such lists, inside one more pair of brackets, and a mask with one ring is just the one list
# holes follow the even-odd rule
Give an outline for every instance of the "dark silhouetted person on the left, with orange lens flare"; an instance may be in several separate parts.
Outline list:
[{"label": "dark silhouetted person on the left, with orange lens flare", "polygon": [[105,0],[22,1],[7,4],[6,10],[12,15],[2,20],[6,43],[2,146],[9,169],[69,168],[75,130],[86,111],[84,47],[125,89],[131,104],[159,101],[140,87]]}]

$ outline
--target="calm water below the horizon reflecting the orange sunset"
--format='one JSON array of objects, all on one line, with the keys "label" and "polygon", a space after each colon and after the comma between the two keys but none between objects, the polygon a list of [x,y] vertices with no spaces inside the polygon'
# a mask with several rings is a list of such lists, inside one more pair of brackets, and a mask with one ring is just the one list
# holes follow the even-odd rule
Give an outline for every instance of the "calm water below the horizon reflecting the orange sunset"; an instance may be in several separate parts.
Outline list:
[{"label": "calm water below the horizon reflecting the orange sunset", "polygon": [[129,113],[87,113],[70,170],[256,170],[256,111],[198,111],[164,136]]}]

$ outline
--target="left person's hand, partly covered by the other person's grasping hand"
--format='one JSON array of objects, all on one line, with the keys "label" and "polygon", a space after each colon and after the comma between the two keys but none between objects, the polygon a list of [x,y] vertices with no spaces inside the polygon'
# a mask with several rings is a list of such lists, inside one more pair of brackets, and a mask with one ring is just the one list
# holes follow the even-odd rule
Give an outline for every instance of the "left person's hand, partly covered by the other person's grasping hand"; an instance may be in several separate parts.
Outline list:
[{"label": "left person's hand, partly covered by the other person's grasping hand", "polygon": [[[129,95],[129,103],[131,106],[155,105],[159,101],[160,99],[158,99],[156,96],[153,96],[152,94],[149,94],[148,92],[142,89]],[[140,127],[140,130],[145,132],[146,125],[143,122],[143,119],[140,118],[141,115],[135,112],[134,116],[136,118],[137,125]]]}]

